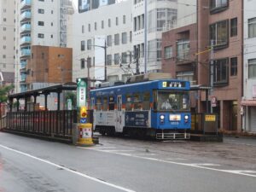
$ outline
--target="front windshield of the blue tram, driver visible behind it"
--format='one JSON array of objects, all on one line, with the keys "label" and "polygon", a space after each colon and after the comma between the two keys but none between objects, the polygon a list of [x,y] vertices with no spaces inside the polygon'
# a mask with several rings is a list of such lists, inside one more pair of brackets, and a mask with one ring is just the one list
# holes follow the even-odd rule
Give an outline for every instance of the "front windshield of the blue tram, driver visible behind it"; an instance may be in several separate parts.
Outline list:
[{"label": "front windshield of the blue tram, driver visible behind it", "polygon": [[189,92],[187,91],[158,91],[158,111],[188,111]]}]

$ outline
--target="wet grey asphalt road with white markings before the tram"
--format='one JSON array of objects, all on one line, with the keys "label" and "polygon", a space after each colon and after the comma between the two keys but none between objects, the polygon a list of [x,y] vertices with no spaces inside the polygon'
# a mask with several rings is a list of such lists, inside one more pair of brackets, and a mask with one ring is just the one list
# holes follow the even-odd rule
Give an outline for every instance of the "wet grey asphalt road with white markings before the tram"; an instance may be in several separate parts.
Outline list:
[{"label": "wet grey asphalt road with white markings before the tram", "polygon": [[254,192],[256,146],[236,141],[101,137],[80,148],[0,132],[0,191]]}]

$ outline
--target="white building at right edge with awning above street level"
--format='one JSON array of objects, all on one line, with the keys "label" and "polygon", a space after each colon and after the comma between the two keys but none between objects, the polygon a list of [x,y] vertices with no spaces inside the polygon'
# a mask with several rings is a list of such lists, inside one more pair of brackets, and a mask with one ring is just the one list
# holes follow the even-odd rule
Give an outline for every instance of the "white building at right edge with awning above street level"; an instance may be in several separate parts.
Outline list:
[{"label": "white building at right edge with awning above street level", "polygon": [[243,1],[243,130],[256,132],[256,1]]}]

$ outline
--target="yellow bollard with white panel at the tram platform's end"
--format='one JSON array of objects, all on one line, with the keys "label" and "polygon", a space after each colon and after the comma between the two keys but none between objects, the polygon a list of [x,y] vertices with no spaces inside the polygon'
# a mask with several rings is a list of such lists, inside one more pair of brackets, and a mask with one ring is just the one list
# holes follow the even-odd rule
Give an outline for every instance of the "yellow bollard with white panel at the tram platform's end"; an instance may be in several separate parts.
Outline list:
[{"label": "yellow bollard with white panel at the tram platform's end", "polygon": [[92,124],[79,124],[79,141],[77,145],[82,147],[89,147],[94,145],[92,142]]}]

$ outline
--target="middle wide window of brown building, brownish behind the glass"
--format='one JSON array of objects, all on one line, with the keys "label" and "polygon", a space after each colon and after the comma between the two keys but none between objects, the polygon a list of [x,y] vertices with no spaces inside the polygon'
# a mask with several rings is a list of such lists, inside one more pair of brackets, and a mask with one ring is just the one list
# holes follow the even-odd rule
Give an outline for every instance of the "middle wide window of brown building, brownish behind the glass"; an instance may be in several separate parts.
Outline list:
[{"label": "middle wide window of brown building, brownish behind the glass", "polygon": [[210,40],[213,49],[225,48],[229,42],[228,20],[222,20],[210,25]]}]

